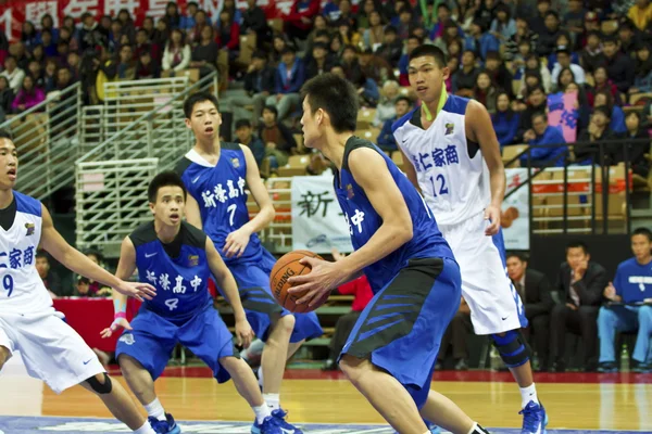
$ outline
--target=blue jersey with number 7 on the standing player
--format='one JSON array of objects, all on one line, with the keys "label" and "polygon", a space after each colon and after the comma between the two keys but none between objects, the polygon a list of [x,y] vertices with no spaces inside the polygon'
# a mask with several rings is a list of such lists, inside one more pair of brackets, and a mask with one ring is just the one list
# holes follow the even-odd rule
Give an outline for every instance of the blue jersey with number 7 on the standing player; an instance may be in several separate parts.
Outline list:
[{"label": "blue jersey with number 7 on the standing player", "polygon": [[229,259],[222,252],[226,237],[249,222],[244,192],[247,161],[240,145],[222,142],[220,159],[214,166],[195,150],[190,150],[178,163],[176,170],[188,193],[199,204],[203,231],[213,240],[225,263],[258,261],[262,247],[256,233],[251,234],[240,258]]}]

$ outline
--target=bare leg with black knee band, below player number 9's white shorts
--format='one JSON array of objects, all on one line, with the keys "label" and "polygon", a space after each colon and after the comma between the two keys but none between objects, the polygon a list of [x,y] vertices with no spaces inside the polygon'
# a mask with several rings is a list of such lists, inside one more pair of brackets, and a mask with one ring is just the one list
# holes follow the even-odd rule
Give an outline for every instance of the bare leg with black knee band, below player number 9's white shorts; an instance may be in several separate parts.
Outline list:
[{"label": "bare leg with black knee band, below player number 9's white shorts", "polygon": [[[99,363],[99,361],[98,361]],[[140,414],[127,391],[111,376],[102,372],[79,383],[84,388],[96,394],[115,419],[129,426],[138,434],[153,434],[155,431],[149,421]]]}]

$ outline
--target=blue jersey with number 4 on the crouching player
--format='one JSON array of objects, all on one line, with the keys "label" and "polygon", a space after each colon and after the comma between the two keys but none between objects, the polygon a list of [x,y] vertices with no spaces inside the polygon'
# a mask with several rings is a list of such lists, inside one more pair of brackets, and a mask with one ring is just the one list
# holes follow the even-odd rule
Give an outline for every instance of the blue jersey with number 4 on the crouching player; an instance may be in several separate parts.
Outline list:
[{"label": "blue jersey with number 4 on the crouching player", "polygon": [[142,282],[156,288],[156,296],[143,307],[173,323],[185,322],[211,303],[208,290],[211,269],[206,259],[206,235],[185,221],[175,240],[163,244],[154,222],[129,235],[136,247],[136,266]]}]

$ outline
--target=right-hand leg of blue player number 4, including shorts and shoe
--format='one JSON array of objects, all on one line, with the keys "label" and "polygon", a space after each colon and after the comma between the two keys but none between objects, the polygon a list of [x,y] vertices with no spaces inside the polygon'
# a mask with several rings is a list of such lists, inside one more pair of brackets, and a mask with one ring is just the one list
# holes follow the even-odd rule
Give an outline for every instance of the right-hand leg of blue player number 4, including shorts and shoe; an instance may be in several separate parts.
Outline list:
[{"label": "right-hand leg of blue player number 4, including shorts and shoe", "polygon": [[233,379],[236,390],[255,414],[252,433],[273,433],[276,421],[273,420],[272,409],[265,404],[253,371],[240,358],[233,335],[217,310],[208,308],[198,314],[179,328],[178,337],[184,346],[211,368],[218,383]]}]

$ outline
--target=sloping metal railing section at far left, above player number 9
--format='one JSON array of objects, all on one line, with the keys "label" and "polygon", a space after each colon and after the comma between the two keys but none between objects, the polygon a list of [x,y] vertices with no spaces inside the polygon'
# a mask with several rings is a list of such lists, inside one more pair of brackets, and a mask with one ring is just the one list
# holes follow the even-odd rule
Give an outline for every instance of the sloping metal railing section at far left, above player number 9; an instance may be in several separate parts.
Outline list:
[{"label": "sloping metal railing section at far left, above player number 9", "polygon": [[0,125],[11,131],[18,151],[17,190],[43,200],[73,183],[80,112],[82,87],[77,82],[48,93],[46,101]]}]

